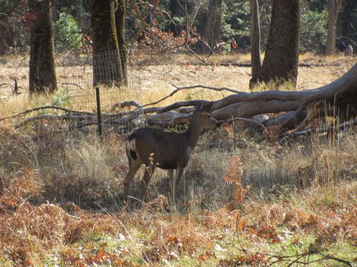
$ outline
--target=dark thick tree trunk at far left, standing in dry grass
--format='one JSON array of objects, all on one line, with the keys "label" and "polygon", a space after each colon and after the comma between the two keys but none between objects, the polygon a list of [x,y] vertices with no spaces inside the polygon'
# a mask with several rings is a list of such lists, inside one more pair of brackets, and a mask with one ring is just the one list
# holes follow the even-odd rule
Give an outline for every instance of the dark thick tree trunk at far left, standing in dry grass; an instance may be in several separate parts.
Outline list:
[{"label": "dark thick tree trunk at far left, standing in dry grass", "polygon": [[29,0],[33,15],[30,28],[30,93],[53,93],[57,86],[54,67],[54,34],[51,0]]}]

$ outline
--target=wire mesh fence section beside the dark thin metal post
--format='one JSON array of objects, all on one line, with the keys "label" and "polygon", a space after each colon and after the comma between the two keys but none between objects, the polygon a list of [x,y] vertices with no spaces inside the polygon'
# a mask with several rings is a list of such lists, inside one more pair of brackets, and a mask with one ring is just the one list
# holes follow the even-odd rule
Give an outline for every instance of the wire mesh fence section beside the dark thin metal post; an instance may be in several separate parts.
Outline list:
[{"label": "wire mesh fence section beside the dark thin metal post", "polygon": [[[60,105],[71,110],[89,112],[98,116],[100,102],[101,122],[104,129],[112,127],[131,130],[142,123],[140,112],[129,116],[129,112],[142,103],[141,80],[137,64],[137,53],[130,51],[109,51],[93,56],[64,56],[59,66]],[[95,88],[99,88],[96,95]],[[86,114],[86,113],[82,113]],[[84,125],[98,122],[98,117],[86,114]],[[95,122],[96,120],[96,122]],[[77,125],[81,127],[81,125]]]}]

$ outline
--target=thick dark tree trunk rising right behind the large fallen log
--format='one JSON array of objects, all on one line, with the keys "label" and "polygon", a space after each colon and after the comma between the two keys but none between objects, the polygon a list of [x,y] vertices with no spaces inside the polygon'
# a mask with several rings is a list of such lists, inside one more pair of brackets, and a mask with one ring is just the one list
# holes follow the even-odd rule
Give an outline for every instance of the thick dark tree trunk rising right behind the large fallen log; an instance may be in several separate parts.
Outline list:
[{"label": "thick dark tree trunk rising right behind the large fallen log", "polygon": [[299,29],[300,0],[273,0],[266,55],[261,71],[251,83],[273,80],[278,84],[291,81],[296,85]]}]

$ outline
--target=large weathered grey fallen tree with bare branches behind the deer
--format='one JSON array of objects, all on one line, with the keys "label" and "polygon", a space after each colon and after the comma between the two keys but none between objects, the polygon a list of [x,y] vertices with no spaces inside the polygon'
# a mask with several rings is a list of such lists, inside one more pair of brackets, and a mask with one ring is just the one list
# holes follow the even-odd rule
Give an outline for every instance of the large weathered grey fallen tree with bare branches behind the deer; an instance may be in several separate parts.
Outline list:
[{"label": "large weathered grey fallen tree with bare branches behind the deer", "polygon": [[[104,127],[119,125],[124,127],[122,132],[129,132],[132,127],[128,127],[128,125],[134,120],[136,120],[136,123],[139,121],[139,124],[147,123],[148,125],[160,127],[171,127],[187,123],[190,120],[194,106],[201,105],[206,100],[187,100],[172,103],[164,107],[148,107],[148,105],[157,105],[179,90],[188,90],[190,88],[218,91],[227,90],[229,93],[233,93],[213,103],[211,115],[220,120],[221,124],[223,122],[233,122],[234,120],[239,120],[239,118],[248,121],[247,119],[254,115],[269,114],[270,119],[259,122],[261,129],[272,125],[281,125],[282,132],[293,129],[293,132],[299,132],[299,135],[301,135],[301,132],[308,126],[309,122],[316,117],[338,117],[339,121],[344,123],[349,120],[354,121],[357,116],[357,64],[332,83],[323,85],[320,88],[303,91],[270,90],[247,93],[232,88],[213,88],[206,85],[192,85],[182,88],[175,86],[175,88],[176,90],[170,95],[154,103],[139,105],[134,101],[126,101],[125,103],[114,104],[111,112],[115,108],[122,107],[129,107],[129,111],[103,114],[102,121]],[[136,109],[130,110],[132,109],[131,107],[135,107]],[[63,112],[64,114],[56,113],[54,115],[25,118],[31,112],[41,109],[53,109],[56,112]],[[96,124],[96,114],[94,112],[80,112],[54,106],[26,110],[17,115],[2,118],[0,121],[13,119],[14,117],[24,117],[24,122],[18,122],[16,127],[22,127],[36,120],[63,120],[66,123],[74,120],[75,124],[80,125],[80,127],[82,125],[84,127]],[[77,128],[78,126],[67,127],[67,129],[74,130]],[[310,132],[313,132],[313,130]]]}]

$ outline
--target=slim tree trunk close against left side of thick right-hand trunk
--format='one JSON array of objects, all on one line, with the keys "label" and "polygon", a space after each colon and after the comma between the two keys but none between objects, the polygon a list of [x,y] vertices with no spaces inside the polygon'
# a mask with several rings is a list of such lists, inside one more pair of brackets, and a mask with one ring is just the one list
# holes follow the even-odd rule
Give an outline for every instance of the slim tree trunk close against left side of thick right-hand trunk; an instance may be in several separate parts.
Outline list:
[{"label": "slim tree trunk close against left side of thick right-hand trunk", "polygon": [[[258,0],[251,0],[251,80],[257,79],[261,70],[261,26]],[[251,81],[249,87],[251,87]]]}]

